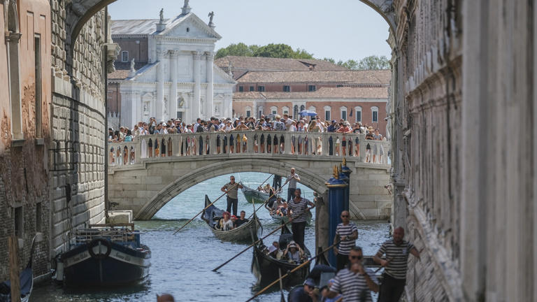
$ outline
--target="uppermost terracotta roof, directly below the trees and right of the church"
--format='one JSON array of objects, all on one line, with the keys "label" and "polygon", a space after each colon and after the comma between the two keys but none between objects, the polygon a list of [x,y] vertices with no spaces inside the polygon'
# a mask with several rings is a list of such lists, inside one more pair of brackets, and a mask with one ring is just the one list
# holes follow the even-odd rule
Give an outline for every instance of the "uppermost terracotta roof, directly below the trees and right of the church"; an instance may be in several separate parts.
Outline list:
[{"label": "uppermost terracotta roof, directly below the trees and right of the church", "polygon": [[235,78],[245,71],[345,71],[343,66],[316,59],[280,59],[268,57],[236,57],[227,56],[215,59],[215,64],[224,71],[228,71],[231,62],[231,71]]}]

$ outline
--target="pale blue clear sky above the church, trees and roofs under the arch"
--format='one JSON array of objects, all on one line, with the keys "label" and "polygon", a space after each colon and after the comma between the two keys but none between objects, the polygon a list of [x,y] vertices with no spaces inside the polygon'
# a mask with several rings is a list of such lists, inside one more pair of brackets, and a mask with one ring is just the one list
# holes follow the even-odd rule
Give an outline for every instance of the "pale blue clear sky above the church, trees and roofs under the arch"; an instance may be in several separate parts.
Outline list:
[{"label": "pale blue clear sky above the church, trees and roofs under the arch", "polygon": [[[118,0],[108,6],[112,20],[158,19],[181,13],[182,0]],[[387,22],[359,0],[191,0],[192,13],[213,22],[222,39],[216,50],[231,43],[285,43],[316,58],[359,60],[369,55],[390,57]]]}]

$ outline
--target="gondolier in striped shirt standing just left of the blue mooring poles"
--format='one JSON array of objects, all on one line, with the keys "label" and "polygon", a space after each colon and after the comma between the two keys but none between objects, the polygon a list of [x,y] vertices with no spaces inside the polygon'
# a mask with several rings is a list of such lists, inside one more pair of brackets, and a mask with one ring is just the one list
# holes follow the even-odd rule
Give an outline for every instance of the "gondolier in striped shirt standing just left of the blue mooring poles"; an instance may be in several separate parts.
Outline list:
[{"label": "gondolier in striped shirt standing just left of the blue mooring poles", "polygon": [[304,231],[306,230],[308,211],[315,208],[315,203],[303,198],[301,193],[301,189],[295,189],[294,199],[287,204],[287,207],[293,220],[291,223],[293,240],[304,250],[306,248],[304,245]]}]

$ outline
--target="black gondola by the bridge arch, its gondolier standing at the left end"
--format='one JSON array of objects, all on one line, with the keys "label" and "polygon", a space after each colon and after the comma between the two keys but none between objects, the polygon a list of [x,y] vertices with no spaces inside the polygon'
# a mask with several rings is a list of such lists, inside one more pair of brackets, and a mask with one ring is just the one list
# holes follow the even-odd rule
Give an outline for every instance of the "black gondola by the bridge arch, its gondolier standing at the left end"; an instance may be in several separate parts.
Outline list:
[{"label": "black gondola by the bridge arch, its gondolier standing at the left end", "polygon": [[[206,195],[205,207],[209,205],[210,199]],[[215,205],[211,205],[203,211],[203,215],[201,216],[201,219],[207,222],[207,226],[210,231],[215,234],[216,238],[222,241],[251,242],[253,235],[254,240],[257,240],[257,232],[262,229],[261,222],[259,222],[257,215],[254,215],[251,220],[242,224],[241,227],[229,231],[220,231],[215,229],[215,224],[222,218],[222,213],[224,213],[224,210],[220,210]]]}]

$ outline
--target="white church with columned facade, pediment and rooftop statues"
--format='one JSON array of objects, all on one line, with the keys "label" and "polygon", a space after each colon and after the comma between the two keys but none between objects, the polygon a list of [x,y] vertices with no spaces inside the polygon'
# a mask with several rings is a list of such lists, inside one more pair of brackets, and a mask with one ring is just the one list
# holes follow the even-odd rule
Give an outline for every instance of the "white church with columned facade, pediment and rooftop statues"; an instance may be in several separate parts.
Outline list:
[{"label": "white church with columned facade, pediment and rooftop statues", "polygon": [[190,12],[165,20],[113,20],[121,53],[108,77],[108,112],[119,124],[231,116],[235,82],[213,64],[221,36]]}]

